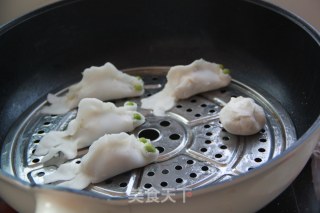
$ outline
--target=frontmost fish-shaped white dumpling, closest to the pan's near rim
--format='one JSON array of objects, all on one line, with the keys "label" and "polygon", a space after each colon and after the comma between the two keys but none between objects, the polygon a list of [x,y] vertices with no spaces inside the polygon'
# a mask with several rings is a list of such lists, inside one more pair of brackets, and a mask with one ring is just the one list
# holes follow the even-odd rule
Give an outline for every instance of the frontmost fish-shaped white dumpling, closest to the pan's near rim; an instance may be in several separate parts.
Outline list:
[{"label": "frontmost fish-shaped white dumpling, closest to the pan's near rim", "polygon": [[44,183],[65,181],[58,186],[84,189],[135,168],[154,162],[159,151],[145,138],[137,139],[127,133],[105,135],[95,141],[81,159],[68,162],[44,177]]}]

